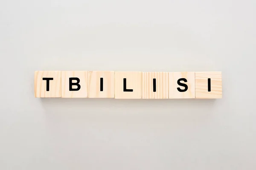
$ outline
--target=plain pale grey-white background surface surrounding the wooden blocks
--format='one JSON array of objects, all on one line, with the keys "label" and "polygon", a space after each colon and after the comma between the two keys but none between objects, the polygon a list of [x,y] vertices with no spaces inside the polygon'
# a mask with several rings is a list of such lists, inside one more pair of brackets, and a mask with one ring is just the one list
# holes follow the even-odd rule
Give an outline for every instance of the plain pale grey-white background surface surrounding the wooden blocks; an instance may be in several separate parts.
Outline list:
[{"label": "plain pale grey-white background surface surrounding the wooden blocks", "polygon": [[[255,0],[2,0],[1,170],[255,170]],[[222,71],[223,99],[38,99],[34,71]]]}]

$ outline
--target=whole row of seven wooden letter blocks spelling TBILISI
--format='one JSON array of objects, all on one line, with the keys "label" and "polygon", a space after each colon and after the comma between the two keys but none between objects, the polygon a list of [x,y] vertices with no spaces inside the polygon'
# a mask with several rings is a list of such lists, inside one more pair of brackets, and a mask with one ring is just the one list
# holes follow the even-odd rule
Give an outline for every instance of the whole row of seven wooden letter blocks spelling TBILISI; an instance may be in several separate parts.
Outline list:
[{"label": "whole row of seven wooden letter blocks spelling TBILISI", "polygon": [[221,72],[35,71],[35,97],[219,99]]}]

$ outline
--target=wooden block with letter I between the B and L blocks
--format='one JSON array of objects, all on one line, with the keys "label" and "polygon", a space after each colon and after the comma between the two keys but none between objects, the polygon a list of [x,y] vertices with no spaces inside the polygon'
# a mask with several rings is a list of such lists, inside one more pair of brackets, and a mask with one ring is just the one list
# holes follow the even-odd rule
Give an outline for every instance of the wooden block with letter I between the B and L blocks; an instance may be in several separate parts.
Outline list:
[{"label": "wooden block with letter I between the B and L blocks", "polygon": [[89,71],[88,72],[88,97],[89,98],[114,98],[114,71]]}]

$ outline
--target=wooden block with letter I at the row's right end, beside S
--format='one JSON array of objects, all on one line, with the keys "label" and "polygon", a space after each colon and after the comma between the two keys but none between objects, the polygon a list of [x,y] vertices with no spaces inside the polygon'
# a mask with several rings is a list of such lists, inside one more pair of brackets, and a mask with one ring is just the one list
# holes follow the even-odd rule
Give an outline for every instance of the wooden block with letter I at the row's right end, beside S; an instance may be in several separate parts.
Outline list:
[{"label": "wooden block with letter I at the row's right end, beside S", "polygon": [[221,72],[195,72],[195,98],[222,98]]}]

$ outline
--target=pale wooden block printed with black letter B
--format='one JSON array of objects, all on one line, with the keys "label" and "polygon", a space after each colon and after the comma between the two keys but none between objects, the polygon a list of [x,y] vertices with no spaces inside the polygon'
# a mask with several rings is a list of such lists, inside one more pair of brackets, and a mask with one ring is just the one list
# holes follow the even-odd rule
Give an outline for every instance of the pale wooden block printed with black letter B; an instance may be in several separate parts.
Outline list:
[{"label": "pale wooden block printed with black letter B", "polygon": [[87,98],[88,71],[61,71],[61,97]]}]

